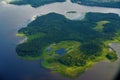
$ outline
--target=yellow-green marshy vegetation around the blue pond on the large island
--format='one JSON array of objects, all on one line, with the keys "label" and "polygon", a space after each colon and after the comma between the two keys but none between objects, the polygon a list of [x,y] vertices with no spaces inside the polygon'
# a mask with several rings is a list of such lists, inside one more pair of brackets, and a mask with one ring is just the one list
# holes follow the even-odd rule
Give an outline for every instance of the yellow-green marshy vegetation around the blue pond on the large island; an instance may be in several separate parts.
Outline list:
[{"label": "yellow-green marshy vegetation around the blue pond on the large island", "polygon": [[[108,58],[110,61],[115,61],[117,59],[116,54],[109,52],[108,47],[104,47],[104,50],[100,51],[100,56],[86,55],[80,51],[80,47],[81,43],[77,41],[62,41],[47,46],[42,56],[44,59],[42,62],[43,67],[51,69],[53,72],[59,72],[67,77],[76,77],[100,60]],[[48,48],[50,50],[46,51]],[[56,50],[60,48],[66,50],[63,56],[56,54]]]}]

